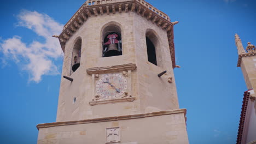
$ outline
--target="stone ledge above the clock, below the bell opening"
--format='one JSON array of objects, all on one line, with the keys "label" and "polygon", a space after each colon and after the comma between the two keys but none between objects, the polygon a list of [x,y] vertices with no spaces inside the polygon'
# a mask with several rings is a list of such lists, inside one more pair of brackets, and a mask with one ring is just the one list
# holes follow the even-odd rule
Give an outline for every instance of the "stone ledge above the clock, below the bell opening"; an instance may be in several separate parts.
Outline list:
[{"label": "stone ledge above the clock, below the bell opening", "polygon": [[120,71],[128,71],[128,70],[136,70],[137,66],[134,63],[122,64],[122,65],[113,65],[110,67],[95,67],[89,68],[86,70],[87,74],[107,74],[107,73],[115,73]]}]

